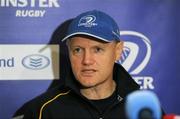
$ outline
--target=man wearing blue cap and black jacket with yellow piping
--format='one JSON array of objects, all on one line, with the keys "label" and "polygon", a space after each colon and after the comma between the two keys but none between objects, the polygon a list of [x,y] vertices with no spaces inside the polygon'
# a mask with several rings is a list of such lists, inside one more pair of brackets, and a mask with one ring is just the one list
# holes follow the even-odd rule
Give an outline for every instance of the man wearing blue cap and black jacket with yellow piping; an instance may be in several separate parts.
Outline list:
[{"label": "man wearing blue cap and black jacket with yellow piping", "polygon": [[125,98],[139,86],[115,63],[123,50],[116,22],[101,11],[82,13],[71,22],[62,41],[71,64],[65,84],[30,101],[17,117],[126,118]]}]

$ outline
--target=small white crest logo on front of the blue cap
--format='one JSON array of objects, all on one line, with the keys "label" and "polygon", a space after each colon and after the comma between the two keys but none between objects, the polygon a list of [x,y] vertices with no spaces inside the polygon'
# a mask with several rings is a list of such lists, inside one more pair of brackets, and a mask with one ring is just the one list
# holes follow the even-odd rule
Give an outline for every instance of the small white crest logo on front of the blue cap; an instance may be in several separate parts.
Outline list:
[{"label": "small white crest logo on front of the blue cap", "polygon": [[84,26],[84,27],[96,26],[97,23],[95,23],[95,21],[96,21],[96,17],[94,15],[87,15],[81,17],[78,26]]}]

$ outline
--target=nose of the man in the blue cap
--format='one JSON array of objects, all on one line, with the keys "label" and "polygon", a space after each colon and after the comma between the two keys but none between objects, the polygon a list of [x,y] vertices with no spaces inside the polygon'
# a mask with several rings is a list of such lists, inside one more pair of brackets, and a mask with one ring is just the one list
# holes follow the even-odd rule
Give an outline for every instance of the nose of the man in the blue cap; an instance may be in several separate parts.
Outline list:
[{"label": "nose of the man in the blue cap", "polygon": [[85,51],[82,63],[84,65],[91,65],[94,63],[93,54],[90,51]]}]

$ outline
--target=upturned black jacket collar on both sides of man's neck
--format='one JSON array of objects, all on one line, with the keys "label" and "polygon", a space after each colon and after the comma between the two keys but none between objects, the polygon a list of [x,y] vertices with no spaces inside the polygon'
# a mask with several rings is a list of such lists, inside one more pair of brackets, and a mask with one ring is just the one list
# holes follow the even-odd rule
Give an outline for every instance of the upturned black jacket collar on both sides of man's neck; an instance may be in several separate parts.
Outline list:
[{"label": "upturned black jacket collar on both sides of man's neck", "polygon": [[[140,86],[132,79],[129,73],[120,65],[115,63],[113,71],[113,79],[116,82],[116,89],[118,95],[122,98],[126,97],[134,90],[138,90]],[[75,93],[80,94],[80,84],[76,81],[71,68],[69,69],[65,78],[65,86],[70,88]]]}]

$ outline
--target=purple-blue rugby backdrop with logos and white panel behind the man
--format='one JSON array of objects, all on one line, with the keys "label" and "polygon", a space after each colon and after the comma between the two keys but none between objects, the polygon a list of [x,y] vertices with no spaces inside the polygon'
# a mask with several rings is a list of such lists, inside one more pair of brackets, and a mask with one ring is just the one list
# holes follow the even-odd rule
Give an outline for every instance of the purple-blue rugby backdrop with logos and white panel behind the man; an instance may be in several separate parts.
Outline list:
[{"label": "purple-blue rugby backdrop with logos and white panel behind the man", "polygon": [[0,119],[62,83],[66,23],[94,9],[120,27],[118,63],[158,95],[166,113],[180,114],[179,0],[0,0]]}]

